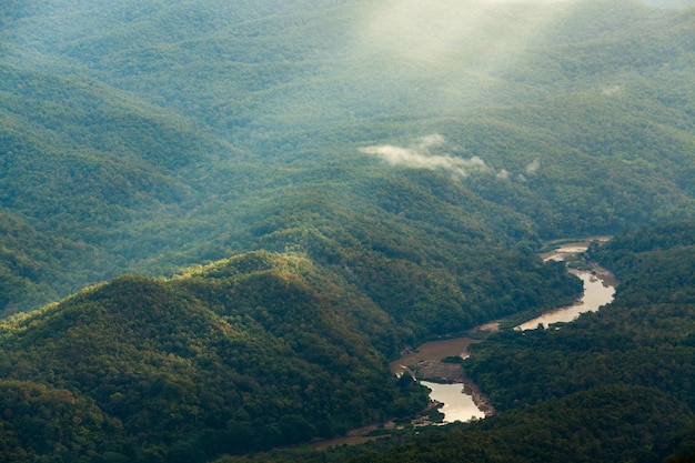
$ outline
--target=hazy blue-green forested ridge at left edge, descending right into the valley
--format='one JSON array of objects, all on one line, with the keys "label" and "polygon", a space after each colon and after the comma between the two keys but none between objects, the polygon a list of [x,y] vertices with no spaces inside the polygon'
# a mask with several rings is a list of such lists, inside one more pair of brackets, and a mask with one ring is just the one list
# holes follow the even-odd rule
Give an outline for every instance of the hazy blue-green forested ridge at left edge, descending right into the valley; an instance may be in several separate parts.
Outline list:
[{"label": "hazy blue-green forested ridge at left edge, descending right into the valley", "polygon": [[0,72],[1,204],[47,228],[77,234],[71,221],[110,227],[190,201],[194,165],[229,150],[191,121],[88,78]]}]

